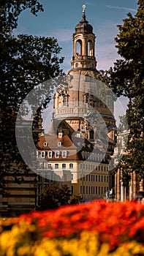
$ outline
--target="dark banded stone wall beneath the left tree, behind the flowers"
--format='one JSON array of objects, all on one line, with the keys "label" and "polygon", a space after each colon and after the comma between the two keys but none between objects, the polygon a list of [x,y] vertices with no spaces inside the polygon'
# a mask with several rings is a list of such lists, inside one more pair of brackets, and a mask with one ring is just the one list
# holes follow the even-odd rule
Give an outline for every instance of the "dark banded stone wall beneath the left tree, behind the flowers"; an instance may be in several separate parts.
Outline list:
[{"label": "dark banded stone wall beneath the left tree, behind the flowers", "polygon": [[5,190],[8,194],[1,195],[1,214],[20,214],[34,210],[36,197],[34,179],[36,177],[36,173],[32,171],[27,176],[20,173],[16,179],[12,174],[5,177]]}]

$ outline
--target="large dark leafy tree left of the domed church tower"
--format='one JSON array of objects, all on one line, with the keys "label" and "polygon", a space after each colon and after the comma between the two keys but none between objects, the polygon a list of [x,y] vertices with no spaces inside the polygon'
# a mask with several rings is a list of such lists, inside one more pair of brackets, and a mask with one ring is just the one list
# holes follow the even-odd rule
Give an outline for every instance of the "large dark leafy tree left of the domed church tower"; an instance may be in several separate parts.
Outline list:
[{"label": "large dark leafy tree left of the domed church tower", "polygon": [[[12,34],[18,26],[18,17],[23,10],[30,9],[37,15],[42,4],[37,0],[4,0],[0,2],[0,193],[4,192],[4,176],[26,170],[18,153],[15,141],[15,118],[21,102],[34,86],[62,74],[64,61],[58,58],[61,48],[53,37],[34,37],[26,34]],[[53,84],[48,86],[49,102]],[[29,102],[31,104],[31,102]],[[23,109],[27,113],[27,108]]]}]

